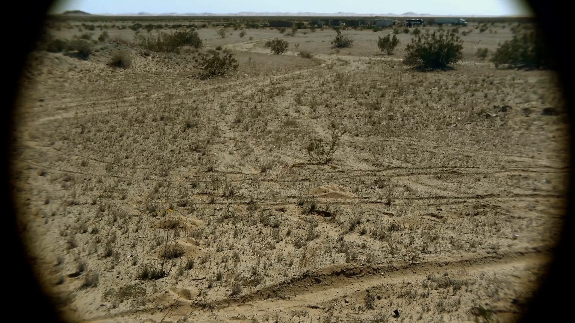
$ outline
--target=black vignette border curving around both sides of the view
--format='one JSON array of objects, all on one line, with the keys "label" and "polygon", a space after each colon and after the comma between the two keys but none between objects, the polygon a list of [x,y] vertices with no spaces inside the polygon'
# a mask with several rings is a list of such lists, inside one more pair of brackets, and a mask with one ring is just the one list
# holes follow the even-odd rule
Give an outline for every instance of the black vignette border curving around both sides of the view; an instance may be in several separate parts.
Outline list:
[{"label": "black vignette border curving around both sides of the view", "polygon": [[[463,0],[461,0],[463,1]],[[5,105],[0,109],[0,145],[3,148],[2,165],[0,172],[0,183],[3,194],[1,194],[1,206],[3,206],[5,216],[0,223],[0,230],[3,241],[3,252],[0,253],[2,259],[1,272],[5,283],[6,293],[2,307],[5,312],[5,319],[9,316],[13,320],[19,321],[42,321],[42,322],[62,322],[56,316],[55,307],[40,289],[34,278],[33,271],[28,266],[27,257],[24,253],[24,246],[21,244],[16,226],[16,209],[12,199],[13,187],[10,179],[10,156],[13,142],[13,109],[16,97],[20,88],[19,80],[28,53],[32,51],[36,43],[37,36],[41,31],[41,26],[45,14],[51,7],[53,0],[18,0],[10,2],[11,6],[5,7],[5,17],[3,17],[5,29],[2,33],[3,69],[0,78],[4,79],[2,95],[6,99]],[[573,105],[572,78],[574,73],[574,61],[568,50],[568,45],[573,37],[571,21],[568,13],[570,5],[568,1],[561,0],[527,0],[536,13],[536,19],[542,25],[543,33],[547,41],[547,46],[552,48],[553,56],[558,66],[559,80],[564,89],[565,101],[568,107],[569,123],[573,124],[574,113],[569,108]],[[563,16],[563,14],[565,16]],[[569,130],[570,137],[573,137],[572,129]],[[574,151],[573,141],[570,141],[570,152]],[[573,175],[571,175],[573,176]],[[570,247],[573,245],[573,220],[570,215],[573,213],[572,196],[573,177],[569,184],[569,198],[566,209],[566,217],[563,222],[563,230],[559,244],[555,248],[555,257],[550,264],[542,286],[535,294],[532,302],[528,306],[528,312],[523,317],[522,322],[545,322],[562,321],[566,317],[569,320],[570,301],[572,300],[573,278],[571,277],[569,256]]]}]

